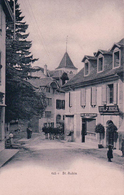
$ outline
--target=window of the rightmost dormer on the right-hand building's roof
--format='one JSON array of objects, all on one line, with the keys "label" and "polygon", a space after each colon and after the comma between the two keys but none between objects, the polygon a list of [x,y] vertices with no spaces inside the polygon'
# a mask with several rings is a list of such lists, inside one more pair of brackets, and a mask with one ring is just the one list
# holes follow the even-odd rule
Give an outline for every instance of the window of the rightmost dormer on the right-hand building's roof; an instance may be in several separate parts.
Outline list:
[{"label": "window of the rightmost dormer on the right-hand building's roof", "polygon": [[120,66],[120,58],[121,58],[121,51],[116,48],[113,53],[113,68],[117,68]]}]

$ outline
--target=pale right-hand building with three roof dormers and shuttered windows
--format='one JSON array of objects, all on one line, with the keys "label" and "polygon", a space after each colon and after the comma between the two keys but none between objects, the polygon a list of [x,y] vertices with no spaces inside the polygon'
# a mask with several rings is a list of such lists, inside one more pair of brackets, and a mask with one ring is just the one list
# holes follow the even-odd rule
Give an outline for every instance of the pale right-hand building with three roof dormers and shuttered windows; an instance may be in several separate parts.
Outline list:
[{"label": "pale right-hand building with three roof dormers and shuttered windows", "polygon": [[124,120],[124,39],[108,51],[84,56],[82,62],[84,68],[62,87],[65,129],[74,131],[77,142],[97,141],[98,123],[106,129],[106,122],[112,120],[119,129]]}]

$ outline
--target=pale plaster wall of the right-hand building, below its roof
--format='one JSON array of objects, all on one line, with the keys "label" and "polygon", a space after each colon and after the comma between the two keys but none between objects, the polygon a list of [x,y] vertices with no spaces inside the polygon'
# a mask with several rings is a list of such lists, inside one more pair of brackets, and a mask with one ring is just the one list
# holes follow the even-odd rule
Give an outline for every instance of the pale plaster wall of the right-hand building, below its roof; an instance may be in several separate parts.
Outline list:
[{"label": "pale plaster wall of the right-hand building, below its roof", "polygon": [[[118,106],[119,109],[124,112],[124,97],[123,97],[123,90],[124,90],[124,83],[121,80],[116,80],[110,83],[118,83]],[[81,142],[81,131],[82,131],[82,118],[80,116],[81,113],[96,113],[97,117],[96,124],[101,123],[106,128],[106,122],[108,120],[112,120],[117,128],[120,127],[122,123],[122,118],[119,115],[101,115],[99,113],[99,106],[103,106],[102,104],[102,85],[108,85],[108,83],[98,84],[97,86],[97,104],[95,107],[91,106],[91,87],[86,87],[86,106],[82,107],[80,104],[80,93],[81,88],[76,89],[75,91],[71,92],[71,99],[72,99],[72,107],[69,107],[69,92],[65,93],[65,114],[66,115],[74,115],[74,139],[77,142]],[[114,104],[111,104],[114,105]],[[120,122],[121,121],[121,122]],[[95,130],[95,129],[94,129]]]}]

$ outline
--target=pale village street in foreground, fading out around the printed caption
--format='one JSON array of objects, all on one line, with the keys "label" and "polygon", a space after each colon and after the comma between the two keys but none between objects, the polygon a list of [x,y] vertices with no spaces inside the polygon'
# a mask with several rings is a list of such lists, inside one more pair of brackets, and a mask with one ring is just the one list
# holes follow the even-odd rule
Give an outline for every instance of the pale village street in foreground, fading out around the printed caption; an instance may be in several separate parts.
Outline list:
[{"label": "pale village street in foreground, fading out around the printed caption", "polygon": [[105,148],[45,140],[42,136],[21,139],[21,145],[0,170],[2,195],[8,189],[10,195],[121,195],[124,190],[124,159],[114,153],[113,162],[107,162]]}]

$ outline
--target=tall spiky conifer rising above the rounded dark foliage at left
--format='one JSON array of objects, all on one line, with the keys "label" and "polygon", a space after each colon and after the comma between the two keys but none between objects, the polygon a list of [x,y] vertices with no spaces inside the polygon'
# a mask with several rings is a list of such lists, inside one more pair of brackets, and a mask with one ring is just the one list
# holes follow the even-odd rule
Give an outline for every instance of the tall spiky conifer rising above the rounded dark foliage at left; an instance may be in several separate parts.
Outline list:
[{"label": "tall spiky conifer rising above the rounded dark foliage at left", "polygon": [[[10,7],[13,10],[13,0],[9,1]],[[14,24],[7,21],[6,28],[6,63],[7,66],[15,67],[21,70],[22,76],[26,76],[26,73],[31,67],[31,63],[37,61],[34,59],[30,52],[32,46],[31,41],[27,41],[29,36],[26,33],[28,25],[23,22],[24,16],[21,16],[22,12],[19,8],[18,1],[15,0],[15,40],[14,40]]]}]

